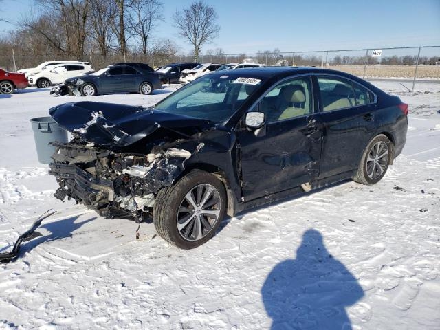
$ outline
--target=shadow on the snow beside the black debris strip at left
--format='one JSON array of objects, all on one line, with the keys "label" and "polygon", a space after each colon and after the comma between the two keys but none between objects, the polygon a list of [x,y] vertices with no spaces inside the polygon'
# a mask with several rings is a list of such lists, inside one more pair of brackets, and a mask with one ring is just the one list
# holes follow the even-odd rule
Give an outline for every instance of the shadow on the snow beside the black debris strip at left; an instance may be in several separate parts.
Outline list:
[{"label": "shadow on the snow beside the black debris strip at left", "polygon": [[41,243],[72,237],[75,230],[81,228],[83,225],[85,225],[85,223],[94,221],[94,219],[96,219],[96,217],[91,217],[89,219],[77,222],[78,217],[79,216],[41,225],[36,232],[42,232],[41,228],[44,228],[45,230],[49,231],[50,234],[44,234],[42,232],[43,236],[40,236],[38,239],[33,239],[32,241],[23,243],[20,254],[32,250]]}]

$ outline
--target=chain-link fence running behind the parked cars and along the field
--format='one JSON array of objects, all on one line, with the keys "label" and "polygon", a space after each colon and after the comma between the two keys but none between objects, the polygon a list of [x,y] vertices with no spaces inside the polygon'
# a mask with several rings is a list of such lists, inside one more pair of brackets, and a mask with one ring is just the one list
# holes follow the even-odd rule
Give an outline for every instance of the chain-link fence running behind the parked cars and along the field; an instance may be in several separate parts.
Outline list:
[{"label": "chain-link fence running behind the parked cars and along the field", "polygon": [[[380,51],[380,52],[377,52]],[[373,54],[373,52],[375,54]],[[0,66],[14,70],[23,68],[23,54],[8,50],[9,58],[3,58]],[[380,56],[378,54],[380,53]],[[46,54],[35,58],[37,64],[43,61],[60,60],[62,56]],[[17,59],[17,63],[16,63]],[[73,58],[63,58],[73,59]],[[193,62],[191,55],[150,52],[144,54],[115,53],[102,58],[98,52],[85,56],[95,69],[116,62],[143,62],[159,67],[173,62]],[[263,65],[313,66],[336,69],[366,79],[401,79],[412,84],[417,80],[440,81],[440,46],[382,47],[357,50],[316,50],[310,52],[270,52],[241,54],[204,54],[199,63],[260,63]]]}]

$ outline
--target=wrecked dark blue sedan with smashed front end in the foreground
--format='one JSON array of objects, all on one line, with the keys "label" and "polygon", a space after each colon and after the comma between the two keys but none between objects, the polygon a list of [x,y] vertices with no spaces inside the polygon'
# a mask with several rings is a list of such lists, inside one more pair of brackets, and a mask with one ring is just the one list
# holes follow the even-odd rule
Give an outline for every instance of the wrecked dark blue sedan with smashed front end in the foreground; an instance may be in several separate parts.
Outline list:
[{"label": "wrecked dark blue sedan with smashed front end in the foreground", "polygon": [[225,214],[353,179],[375,184],[406,142],[408,106],[328,69],[215,72],[154,107],[76,102],[50,109],[74,137],[50,173],[105,217],[153,217],[179,248]]}]

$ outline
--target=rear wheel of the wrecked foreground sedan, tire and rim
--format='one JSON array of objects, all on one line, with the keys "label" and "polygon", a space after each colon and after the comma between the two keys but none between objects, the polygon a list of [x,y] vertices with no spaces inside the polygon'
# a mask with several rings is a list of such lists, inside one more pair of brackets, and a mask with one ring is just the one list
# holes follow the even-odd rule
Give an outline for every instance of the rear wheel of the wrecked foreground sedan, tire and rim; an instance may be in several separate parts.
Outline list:
[{"label": "rear wheel of the wrecked foreground sedan, tire and rim", "polygon": [[[383,156],[379,157],[382,154]],[[393,157],[393,143],[388,137],[383,134],[373,137],[362,154],[358,172],[353,177],[353,181],[359,184],[377,184],[388,170],[391,157]]]}]

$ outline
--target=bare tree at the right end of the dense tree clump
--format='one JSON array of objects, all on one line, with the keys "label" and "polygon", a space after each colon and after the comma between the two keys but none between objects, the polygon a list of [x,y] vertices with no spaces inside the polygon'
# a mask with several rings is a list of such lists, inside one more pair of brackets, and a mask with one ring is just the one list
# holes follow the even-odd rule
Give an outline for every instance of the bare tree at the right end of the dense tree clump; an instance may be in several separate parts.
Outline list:
[{"label": "bare tree at the right end of the dense tree clump", "polygon": [[142,54],[146,55],[151,32],[164,20],[164,5],[159,0],[133,0],[131,4],[131,30],[140,39]]}]

